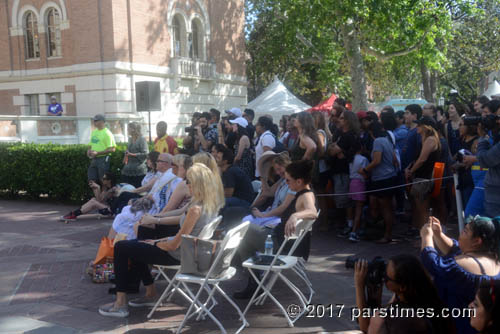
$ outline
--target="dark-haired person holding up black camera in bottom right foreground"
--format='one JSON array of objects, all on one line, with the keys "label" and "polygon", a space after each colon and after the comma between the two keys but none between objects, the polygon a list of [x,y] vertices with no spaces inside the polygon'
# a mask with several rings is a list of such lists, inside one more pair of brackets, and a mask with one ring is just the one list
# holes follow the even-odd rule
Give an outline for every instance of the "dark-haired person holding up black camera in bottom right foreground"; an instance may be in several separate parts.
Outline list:
[{"label": "dark-haired person holding up black camera in bottom right foreground", "polygon": [[[382,285],[367,282],[368,262],[359,260],[354,268],[354,284],[356,287],[356,306],[360,312],[366,308],[381,306]],[[422,263],[413,255],[397,255],[389,260],[386,266],[385,287],[393,293],[389,305],[385,307],[386,314],[381,311],[373,317],[359,317],[359,329],[369,334],[432,334],[454,333],[450,319],[440,317],[417,316],[417,310],[430,310],[434,314],[441,314],[444,307],[438,296],[431,278],[425,271]],[[368,283],[368,286],[367,286]],[[368,296],[377,305],[368,305],[365,290]],[[372,296],[374,294],[375,296]],[[393,309],[394,316],[391,316]],[[414,316],[397,316],[395,310],[413,310]],[[408,311],[408,314],[410,312]]]}]

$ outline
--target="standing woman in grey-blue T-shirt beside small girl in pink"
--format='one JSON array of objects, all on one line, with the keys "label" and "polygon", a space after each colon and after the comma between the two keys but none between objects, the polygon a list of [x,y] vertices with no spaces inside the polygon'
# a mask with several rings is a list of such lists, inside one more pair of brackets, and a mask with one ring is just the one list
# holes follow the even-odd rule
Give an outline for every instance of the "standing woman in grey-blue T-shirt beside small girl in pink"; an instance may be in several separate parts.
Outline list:
[{"label": "standing woman in grey-blue T-shirt beside small girl in pink", "polygon": [[[358,173],[364,177],[370,175],[370,190],[378,190],[372,193],[380,208],[385,223],[384,237],[377,243],[386,244],[392,241],[392,225],[394,223],[394,209],[392,198],[394,189],[387,189],[396,185],[398,161],[394,152],[394,143],[391,142],[387,132],[384,131],[379,122],[370,124],[370,135],[374,138],[371,152],[372,161]],[[375,215],[373,215],[375,216]]]}]

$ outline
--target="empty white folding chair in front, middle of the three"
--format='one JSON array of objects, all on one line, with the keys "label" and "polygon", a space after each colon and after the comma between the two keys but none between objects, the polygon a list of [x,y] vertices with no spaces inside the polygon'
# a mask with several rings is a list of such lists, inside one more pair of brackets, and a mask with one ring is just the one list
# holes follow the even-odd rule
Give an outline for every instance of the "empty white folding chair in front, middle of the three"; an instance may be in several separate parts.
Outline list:
[{"label": "empty white folding chair in front, middle of the three", "polygon": [[[241,332],[247,325],[248,322],[245,319],[245,316],[241,312],[241,309],[238,307],[238,305],[224,292],[224,290],[221,289],[219,284],[221,282],[230,280],[233,278],[233,276],[236,274],[236,268],[234,267],[228,267],[224,272],[220,273],[216,277],[213,276],[214,268],[216,268],[219,264],[219,262],[223,261],[224,264],[231,263],[231,260],[236,253],[236,249],[238,248],[241,240],[245,236],[248,226],[250,225],[250,222],[244,222],[233,229],[231,229],[229,232],[227,232],[226,236],[224,237],[224,240],[221,243],[220,246],[220,251],[217,254],[217,257],[215,258],[213,264],[210,266],[210,269],[208,270],[207,275],[205,276],[198,276],[198,275],[190,275],[190,274],[176,274],[175,277],[173,278],[174,281],[178,281],[181,283],[185,291],[189,294],[189,296],[192,299],[192,303],[189,306],[186,315],[184,316],[184,319],[182,320],[182,323],[179,325],[179,328],[177,329],[177,334],[179,334],[186,324],[187,320],[191,318],[193,315],[198,313],[196,311],[196,307],[201,309],[201,313],[206,314],[212,319],[219,329],[221,330],[222,333],[226,333],[226,329],[224,326],[221,324],[221,322],[213,315],[211,312],[211,308],[207,308],[206,304],[214,298],[215,292],[219,292],[232,306],[233,308],[238,312],[239,318],[242,321],[242,325],[236,333]],[[182,259],[181,259],[182,262]],[[196,295],[189,289],[188,283],[192,284],[197,284],[199,285],[198,292]],[[208,297],[205,302],[200,300],[201,297],[201,292],[206,291],[205,287],[210,286],[210,293],[208,294]]]}]

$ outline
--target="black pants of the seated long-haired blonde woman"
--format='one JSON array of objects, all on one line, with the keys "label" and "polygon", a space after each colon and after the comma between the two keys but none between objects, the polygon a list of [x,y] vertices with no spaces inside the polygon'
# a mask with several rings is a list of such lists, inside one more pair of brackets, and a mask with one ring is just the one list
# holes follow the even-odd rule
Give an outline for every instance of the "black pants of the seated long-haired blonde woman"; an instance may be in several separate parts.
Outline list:
[{"label": "black pants of the seated long-haired blonde woman", "polygon": [[145,286],[153,284],[148,264],[180,264],[167,251],[138,240],[119,241],[114,252],[115,283],[118,292],[127,292],[129,282],[133,283],[135,278]]}]

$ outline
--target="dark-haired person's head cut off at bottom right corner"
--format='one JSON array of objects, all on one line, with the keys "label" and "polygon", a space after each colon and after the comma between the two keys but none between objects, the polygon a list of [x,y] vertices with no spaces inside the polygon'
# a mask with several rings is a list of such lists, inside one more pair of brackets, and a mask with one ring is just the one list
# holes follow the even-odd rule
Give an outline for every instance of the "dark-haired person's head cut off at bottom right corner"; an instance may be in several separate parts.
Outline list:
[{"label": "dark-haired person's head cut off at bottom right corner", "polygon": [[500,281],[484,280],[477,290],[474,301],[469,304],[473,310],[470,318],[472,328],[481,334],[500,333]]}]

